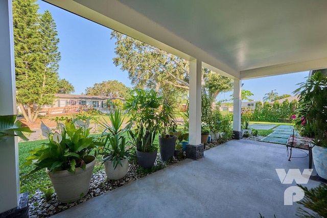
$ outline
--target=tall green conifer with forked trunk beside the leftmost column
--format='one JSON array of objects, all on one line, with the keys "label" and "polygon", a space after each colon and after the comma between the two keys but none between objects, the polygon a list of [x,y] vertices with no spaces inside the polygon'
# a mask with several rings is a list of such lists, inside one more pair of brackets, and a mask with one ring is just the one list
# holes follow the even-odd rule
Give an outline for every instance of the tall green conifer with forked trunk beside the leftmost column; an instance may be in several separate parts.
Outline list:
[{"label": "tall green conifer with forked trunk beside the leftmost column", "polygon": [[13,1],[17,104],[27,122],[35,122],[39,108],[52,104],[58,91],[56,24],[49,11],[37,13],[35,2]]}]

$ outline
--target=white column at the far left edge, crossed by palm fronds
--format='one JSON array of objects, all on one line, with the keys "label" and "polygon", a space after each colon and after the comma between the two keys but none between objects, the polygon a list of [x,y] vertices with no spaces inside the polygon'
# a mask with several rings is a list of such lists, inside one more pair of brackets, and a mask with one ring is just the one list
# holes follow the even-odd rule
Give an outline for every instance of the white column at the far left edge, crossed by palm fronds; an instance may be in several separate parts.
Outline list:
[{"label": "white column at the far left edge, crossed by palm fronds", "polygon": [[[0,1],[0,115],[16,114],[12,0]],[[0,141],[0,213],[15,208],[19,196],[17,137]]]}]

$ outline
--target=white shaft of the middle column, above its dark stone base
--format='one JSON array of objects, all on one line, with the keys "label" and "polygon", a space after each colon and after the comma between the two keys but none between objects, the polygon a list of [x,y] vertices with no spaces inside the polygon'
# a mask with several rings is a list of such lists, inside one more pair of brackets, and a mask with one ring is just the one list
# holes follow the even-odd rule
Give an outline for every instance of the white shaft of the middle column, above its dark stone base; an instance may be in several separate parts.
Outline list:
[{"label": "white shaft of the middle column, above its dark stone base", "polygon": [[201,61],[190,61],[190,94],[189,94],[189,142],[196,145],[201,143]]}]

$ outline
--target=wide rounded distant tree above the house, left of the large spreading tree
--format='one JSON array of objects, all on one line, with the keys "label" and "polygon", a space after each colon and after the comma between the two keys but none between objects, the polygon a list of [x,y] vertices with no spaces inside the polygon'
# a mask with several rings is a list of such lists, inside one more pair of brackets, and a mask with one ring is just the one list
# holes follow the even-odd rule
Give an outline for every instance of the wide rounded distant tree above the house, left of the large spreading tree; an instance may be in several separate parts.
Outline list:
[{"label": "wide rounded distant tree above the house, left of the large spreading tree", "polygon": [[85,92],[87,95],[128,98],[130,90],[131,88],[117,80],[108,80],[87,87]]}]

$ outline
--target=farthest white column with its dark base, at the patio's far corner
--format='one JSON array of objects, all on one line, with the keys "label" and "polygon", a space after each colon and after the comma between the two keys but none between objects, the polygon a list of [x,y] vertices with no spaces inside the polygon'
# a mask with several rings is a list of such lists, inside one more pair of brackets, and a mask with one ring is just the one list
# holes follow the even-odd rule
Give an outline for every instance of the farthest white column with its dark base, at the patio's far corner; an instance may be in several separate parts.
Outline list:
[{"label": "farthest white column with its dark base, at the patio's far corner", "polygon": [[234,80],[233,133],[236,139],[241,139],[243,137],[241,131],[241,82],[241,80]]}]

